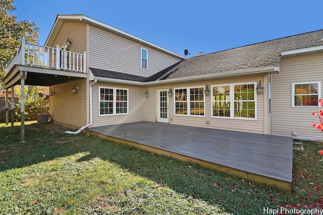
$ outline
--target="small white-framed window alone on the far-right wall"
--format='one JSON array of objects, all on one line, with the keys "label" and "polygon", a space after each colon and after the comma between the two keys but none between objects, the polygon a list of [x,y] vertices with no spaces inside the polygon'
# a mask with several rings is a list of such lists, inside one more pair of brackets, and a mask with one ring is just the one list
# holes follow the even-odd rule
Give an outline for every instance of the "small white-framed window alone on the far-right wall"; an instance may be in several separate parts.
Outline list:
[{"label": "small white-framed window alone on the far-right wall", "polygon": [[320,82],[293,83],[292,106],[318,106]]}]

